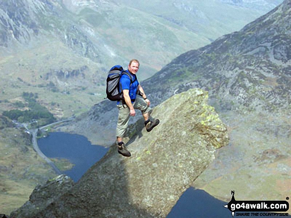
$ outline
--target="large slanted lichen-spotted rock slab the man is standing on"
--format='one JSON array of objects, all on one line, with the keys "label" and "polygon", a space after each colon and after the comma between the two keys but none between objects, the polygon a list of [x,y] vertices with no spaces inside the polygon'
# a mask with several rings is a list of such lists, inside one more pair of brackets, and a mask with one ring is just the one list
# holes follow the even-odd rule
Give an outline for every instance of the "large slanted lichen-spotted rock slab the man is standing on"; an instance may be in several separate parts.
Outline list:
[{"label": "large slanted lichen-spotted rock slab the man is standing on", "polygon": [[[12,217],[166,217],[213,161],[216,149],[228,144],[226,126],[207,100],[208,93],[201,89],[173,96],[153,109],[151,116],[161,120],[153,131],[139,131],[142,121],[129,131],[130,158],[119,155],[113,145],[62,196],[35,202],[32,199],[40,196],[35,190]],[[49,193],[54,195],[53,189]]]}]

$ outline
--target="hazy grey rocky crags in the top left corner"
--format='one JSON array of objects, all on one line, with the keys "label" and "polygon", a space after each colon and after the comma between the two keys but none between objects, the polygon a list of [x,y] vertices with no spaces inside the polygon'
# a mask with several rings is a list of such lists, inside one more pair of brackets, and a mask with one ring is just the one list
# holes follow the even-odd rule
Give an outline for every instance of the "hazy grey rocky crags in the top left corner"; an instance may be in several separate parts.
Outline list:
[{"label": "hazy grey rocky crags in the top left corner", "polygon": [[70,20],[59,0],[15,0],[0,3],[0,46],[13,49],[42,37],[59,37],[63,43],[82,56],[100,62],[99,50]]}]

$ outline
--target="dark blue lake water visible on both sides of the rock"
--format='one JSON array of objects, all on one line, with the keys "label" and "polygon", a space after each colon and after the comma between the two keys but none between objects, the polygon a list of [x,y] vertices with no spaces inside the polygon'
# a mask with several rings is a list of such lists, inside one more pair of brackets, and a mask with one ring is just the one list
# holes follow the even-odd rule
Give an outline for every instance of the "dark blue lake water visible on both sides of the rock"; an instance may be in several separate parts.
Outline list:
[{"label": "dark blue lake water visible on both sides of the rock", "polygon": [[[65,158],[75,164],[71,170],[61,172],[70,176],[75,182],[108,151],[108,148],[92,145],[82,135],[64,132],[50,133],[48,137],[39,139],[38,145],[47,157]],[[188,188],[167,218],[232,218],[231,212],[224,207],[227,203],[214,198],[203,190]],[[235,214],[234,217],[242,216]],[[248,217],[274,218],[273,216]],[[246,216],[243,216],[243,218],[246,218]]]}]

